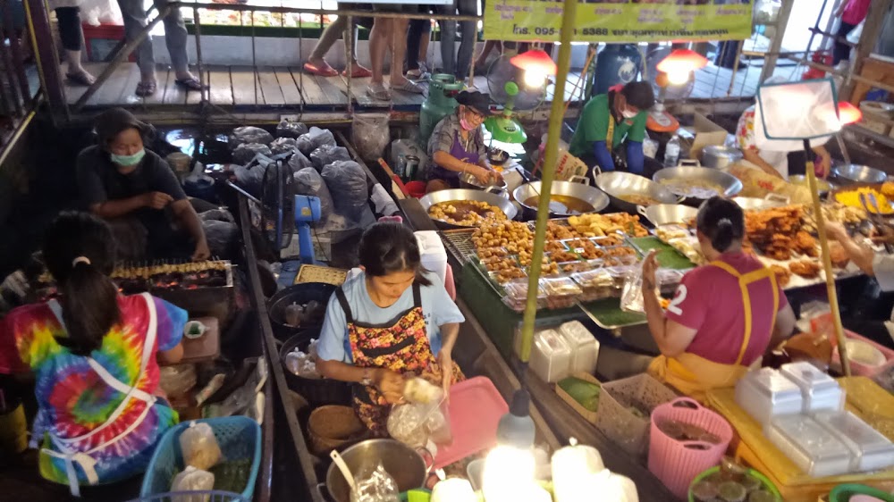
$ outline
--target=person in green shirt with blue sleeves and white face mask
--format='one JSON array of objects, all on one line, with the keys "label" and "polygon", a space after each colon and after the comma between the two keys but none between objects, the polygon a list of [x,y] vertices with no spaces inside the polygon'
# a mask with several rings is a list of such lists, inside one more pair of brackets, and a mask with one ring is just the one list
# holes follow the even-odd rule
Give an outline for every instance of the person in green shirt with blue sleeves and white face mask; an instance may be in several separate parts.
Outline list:
[{"label": "person in green shirt with blue sleeves and white face mask", "polygon": [[603,171],[614,171],[615,154],[623,144],[627,170],[643,174],[645,120],[654,104],[652,85],[643,81],[617,85],[607,94],[593,96],[580,114],[569,153],[584,161],[587,167],[598,165]]}]

